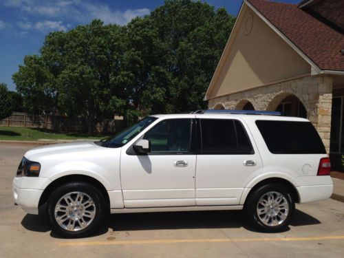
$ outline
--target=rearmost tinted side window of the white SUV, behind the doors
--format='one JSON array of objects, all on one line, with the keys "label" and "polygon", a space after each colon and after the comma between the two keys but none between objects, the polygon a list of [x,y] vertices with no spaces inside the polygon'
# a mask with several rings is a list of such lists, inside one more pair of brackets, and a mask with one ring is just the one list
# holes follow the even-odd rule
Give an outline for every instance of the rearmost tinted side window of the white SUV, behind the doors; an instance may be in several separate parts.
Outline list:
[{"label": "rearmost tinted side window of the white SUV, behind the doors", "polygon": [[256,125],[271,153],[326,153],[319,134],[310,122],[257,120]]}]

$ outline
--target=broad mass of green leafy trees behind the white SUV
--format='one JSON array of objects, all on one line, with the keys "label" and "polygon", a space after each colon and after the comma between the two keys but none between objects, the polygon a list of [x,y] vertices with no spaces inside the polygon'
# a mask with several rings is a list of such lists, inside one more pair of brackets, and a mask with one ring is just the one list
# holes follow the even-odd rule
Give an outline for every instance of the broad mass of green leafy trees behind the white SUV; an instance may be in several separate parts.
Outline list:
[{"label": "broad mass of green leafy trees behind the white SUV", "polygon": [[94,20],[47,34],[41,54],[13,75],[28,111],[127,123],[151,113],[191,111],[202,100],[234,17],[191,0],[165,1],[129,24]]}]

